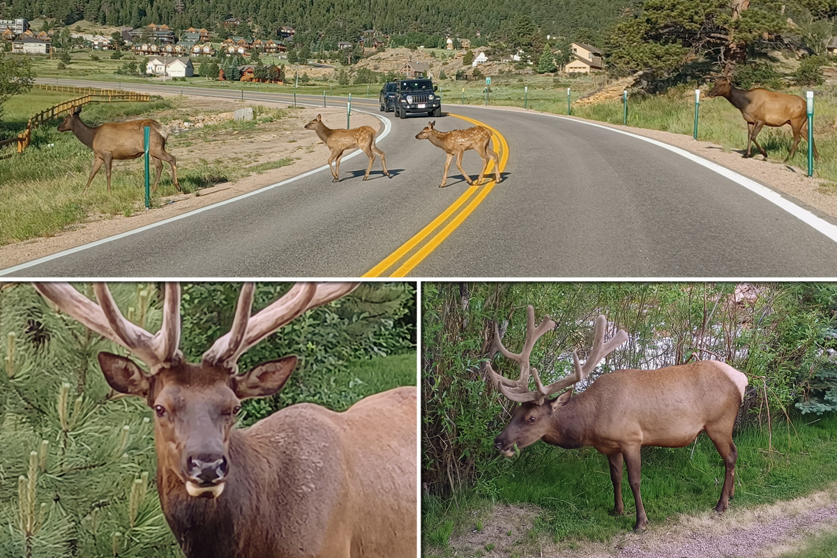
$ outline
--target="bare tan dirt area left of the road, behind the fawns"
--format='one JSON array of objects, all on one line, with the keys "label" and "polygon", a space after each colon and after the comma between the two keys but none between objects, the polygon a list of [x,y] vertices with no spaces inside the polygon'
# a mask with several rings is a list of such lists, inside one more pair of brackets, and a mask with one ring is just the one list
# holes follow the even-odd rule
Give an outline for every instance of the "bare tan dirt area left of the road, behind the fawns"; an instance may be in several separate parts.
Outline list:
[{"label": "bare tan dirt area left of the road, behind the fawns", "polygon": [[[258,190],[260,187],[281,182],[326,164],[329,155],[328,148],[314,132],[306,130],[303,126],[318,114],[322,115],[326,125],[330,127],[340,128],[344,126],[346,110],[339,107],[289,108],[286,103],[279,102],[261,100],[258,102],[242,102],[227,99],[222,101],[212,97],[190,95],[187,111],[177,109],[164,111],[161,114],[161,120],[172,120],[176,124],[182,125],[183,120],[190,122],[198,120],[195,115],[217,114],[220,107],[223,107],[223,111],[227,112],[244,106],[258,105],[288,109],[288,112],[285,118],[260,124],[252,131],[225,131],[213,128],[213,125],[206,125],[203,129],[187,131],[182,136],[172,136],[169,140],[169,146],[171,147],[169,151],[177,156],[178,167],[187,168],[190,161],[197,163],[201,159],[213,161],[220,158],[240,160],[243,164],[246,163],[246,166],[252,166],[254,163],[268,164],[270,161],[279,161],[285,158],[292,159],[293,164],[259,171],[236,182],[223,182],[214,187],[203,188],[198,192],[164,197],[161,199],[162,207],[152,208],[149,211],[143,209],[134,213],[131,217],[90,216],[88,222],[81,223],[71,230],[53,237],[33,238],[20,243],[7,244],[0,247],[0,269],[23,264],[52,253],[176,217],[182,213],[221,202],[230,197]],[[184,118],[183,113],[187,113],[186,118]],[[204,116],[204,118],[206,117]],[[223,122],[223,120],[219,120],[219,122]],[[217,123],[210,121],[210,124]],[[352,125],[370,125],[378,131],[383,127],[381,121],[375,116],[363,113],[352,114]],[[201,138],[203,134],[226,134],[227,136],[221,139],[213,138],[213,141],[203,141]],[[93,156],[91,154],[90,161],[92,160]],[[123,165],[140,164],[141,162],[136,161],[119,161],[118,164],[114,164],[114,172],[118,172],[119,167]],[[365,163],[363,164],[365,165]],[[347,167],[344,166],[343,168],[346,169]],[[168,171],[169,169],[166,167],[163,174],[164,179],[168,177]],[[94,181],[94,184],[90,187],[104,186],[101,182]]]}]

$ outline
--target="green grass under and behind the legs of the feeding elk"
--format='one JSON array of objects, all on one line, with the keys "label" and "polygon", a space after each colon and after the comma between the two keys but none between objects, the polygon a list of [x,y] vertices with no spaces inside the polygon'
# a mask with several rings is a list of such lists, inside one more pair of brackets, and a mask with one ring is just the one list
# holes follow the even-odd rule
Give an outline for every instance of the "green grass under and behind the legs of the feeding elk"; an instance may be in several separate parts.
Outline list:
[{"label": "green grass under and behind the legs of the feeding elk", "polygon": [[[767,449],[768,433],[752,427],[737,433],[735,442],[737,489],[732,506],[791,499],[837,480],[837,417],[798,417],[790,428],[777,422],[773,452]],[[634,499],[627,480],[623,482],[625,514],[614,517],[609,513],[613,488],[608,461],[593,448],[562,450],[537,443],[514,460],[496,459],[499,473],[480,479],[479,489],[457,494],[455,499],[424,499],[427,555],[452,555],[451,535],[479,530],[496,502],[538,507],[535,528],[521,534],[521,545],[543,536],[554,541],[603,541],[633,528]],[[642,467],[642,497],[650,529],[662,525],[666,517],[705,511],[717,503],[723,465],[706,436],[698,438],[695,448],[644,448]]]}]

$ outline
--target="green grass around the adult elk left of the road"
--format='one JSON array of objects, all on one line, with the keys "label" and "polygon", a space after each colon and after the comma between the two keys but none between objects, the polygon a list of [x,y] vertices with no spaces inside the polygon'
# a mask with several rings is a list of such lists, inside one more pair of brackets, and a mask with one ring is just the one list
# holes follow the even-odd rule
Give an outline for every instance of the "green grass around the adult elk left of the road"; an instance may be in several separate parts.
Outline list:
[{"label": "green grass around the adult elk left of the road", "polygon": [[[39,95],[24,96],[35,99]],[[51,98],[47,102],[53,100]],[[14,109],[13,114],[22,114],[22,110],[35,108],[39,101],[18,98],[15,102],[24,108]],[[83,114],[88,124],[144,115],[153,116],[166,124],[167,120],[175,116],[184,118],[191,114],[188,106],[179,110],[177,105],[180,103],[181,100],[158,99],[147,103],[92,104],[85,107]],[[244,137],[264,122],[282,119],[285,113],[275,109],[257,109],[256,115],[256,120],[229,120],[185,131],[172,138],[168,146],[223,141],[232,134]],[[90,189],[83,193],[93,156],[72,134],[59,133],[55,129],[56,124],[50,123],[35,131],[33,145],[23,154],[0,160],[0,192],[3,192],[3,204],[0,205],[0,245],[49,236],[74,223],[85,221],[90,215],[128,216],[142,207],[145,192],[142,188],[144,171],[141,162],[117,162],[114,165],[113,189],[110,193],[104,187],[104,169],[96,176]],[[178,164],[178,178],[183,192],[197,192],[203,187],[238,180],[254,172],[267,171],[293,162],[284,158],[257,163],[233,156],[207,160],[196,155],[192,159],[183,159]],[[151,171],[154,171],[153,166]],[[152,207],[159,205],[161,197],[175,193],[177,191],[166,166],[160,186],[152,194]]]}]

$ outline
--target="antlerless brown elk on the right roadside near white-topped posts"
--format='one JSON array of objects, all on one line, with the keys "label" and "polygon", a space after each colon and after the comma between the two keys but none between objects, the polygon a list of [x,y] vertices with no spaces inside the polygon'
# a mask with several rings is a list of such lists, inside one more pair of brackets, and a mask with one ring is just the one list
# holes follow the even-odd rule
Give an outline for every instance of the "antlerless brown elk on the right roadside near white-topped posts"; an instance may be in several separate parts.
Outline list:
[{"label": "antlerless brown elk on the right roadside near white-topped posts", "polygon": [[[762,131],[762,128],[766,125],[773,128],[786,124],[790,125],[791,131],[793,131],[793,146],[791,146],[785,162],[796,153],[796,147],[799,145],[799,140],[802,139],[803,134],[808,133],[807,105],[805,100],[798,95],[786,95],[763,89],[739,90],[728,77],[718,79],[715,87],[706,95],[709,97],[725,97],[732,103],[732,106],[741,110],[741,115],[747,121],[747,151],[743,155],[745,158],[750,156],[750,143],[752,142],[764,156],[764,160],[767,161],[768,152],[756,141],[758,132]],[[814,157],[819,161],[819,151],[817,151],[816,144],[814,143],[814,146],[810,147],[814,148]]]}]

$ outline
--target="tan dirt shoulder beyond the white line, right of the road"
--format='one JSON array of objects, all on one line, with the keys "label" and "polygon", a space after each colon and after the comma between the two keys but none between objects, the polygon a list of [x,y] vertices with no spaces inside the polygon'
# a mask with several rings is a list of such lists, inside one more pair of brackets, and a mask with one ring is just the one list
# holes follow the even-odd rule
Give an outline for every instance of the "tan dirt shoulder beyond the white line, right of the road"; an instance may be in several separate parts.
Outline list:
[{"label": "tan dirt shoulder beyond the white line, right of the road", "polygon": [[[496,110],[524,110],[515,107],[495,108]],[[527,110],[526,112],[537,111]],[[741,151],[730,151],[726,147],[718,146],[708,141],[695,141],[691,136],[684,136],[682,134],[608,124],[606,122],[586,120],[576,116],[569,116],[568,118],[594,122],[595,124],[608,126],[616,130],[630,131],[638,136],[645,136],[652,140],[662,141],[670,146],[690,151],[709,161],[714,161],[721,166],[725,166],[731,171],[736,171],[745,177],[752,178],[752,180],[770,187],[776,192],[786,194],[788,198],[799,202],[803,206],[808,206],[809,209],[813,208],[831,218],[837,218],[837,196],[834,195],[837,194],[837,183],[824,180],[823,178],[809,178],[807,171],[796,166],[785,165],[781,161],[770,159],[763,161],[761,156],[743,159]]]}]

